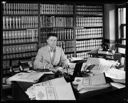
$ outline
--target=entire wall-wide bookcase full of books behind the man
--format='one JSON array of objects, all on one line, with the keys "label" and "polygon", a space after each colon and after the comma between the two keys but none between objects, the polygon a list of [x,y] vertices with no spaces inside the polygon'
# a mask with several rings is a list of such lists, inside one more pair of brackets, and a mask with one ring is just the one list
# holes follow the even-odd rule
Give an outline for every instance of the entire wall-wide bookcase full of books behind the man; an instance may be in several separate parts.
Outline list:
[{"label": "entire wall-wide bookcase full of books behind the man", "polygon": [[68,58],[89,57],[103,38],[103,6],[75,3],[3,3],[3,74],[36,56],[48,33]]}]

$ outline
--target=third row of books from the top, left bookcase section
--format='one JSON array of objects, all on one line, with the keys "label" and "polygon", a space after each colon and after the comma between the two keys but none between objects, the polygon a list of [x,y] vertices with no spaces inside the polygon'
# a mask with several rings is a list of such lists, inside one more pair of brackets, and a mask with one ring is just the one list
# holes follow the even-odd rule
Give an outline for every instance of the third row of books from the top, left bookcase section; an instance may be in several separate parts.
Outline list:
[{"label": "third row of books from the top, left bookcase section", "polygon": [[26,33],[26,31],[3,31],[3,44],[38,42],[38,32]]}]

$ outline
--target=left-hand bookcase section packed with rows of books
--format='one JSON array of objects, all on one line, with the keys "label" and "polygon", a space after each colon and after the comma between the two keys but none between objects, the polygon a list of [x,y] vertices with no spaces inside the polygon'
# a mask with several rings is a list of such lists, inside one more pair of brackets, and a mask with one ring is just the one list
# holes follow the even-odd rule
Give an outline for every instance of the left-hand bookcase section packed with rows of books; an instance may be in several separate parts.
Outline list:
[{"label": "left-hand bookcase section packed with rows of books", "polygon": [[38,4],[3,3],[3,74],[37,53]]}]

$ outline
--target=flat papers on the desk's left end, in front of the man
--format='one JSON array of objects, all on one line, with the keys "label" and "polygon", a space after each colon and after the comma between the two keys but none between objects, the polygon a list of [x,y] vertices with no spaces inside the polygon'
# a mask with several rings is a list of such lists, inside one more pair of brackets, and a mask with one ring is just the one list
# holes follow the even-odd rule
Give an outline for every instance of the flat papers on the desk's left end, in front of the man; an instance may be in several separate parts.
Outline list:
[{"label": "flat papers on the desk's left end, in front of the man", "polygon": [[53,72],[21,72],[8,78],[8,81],[37,82],[44,74],[53,74]]}]

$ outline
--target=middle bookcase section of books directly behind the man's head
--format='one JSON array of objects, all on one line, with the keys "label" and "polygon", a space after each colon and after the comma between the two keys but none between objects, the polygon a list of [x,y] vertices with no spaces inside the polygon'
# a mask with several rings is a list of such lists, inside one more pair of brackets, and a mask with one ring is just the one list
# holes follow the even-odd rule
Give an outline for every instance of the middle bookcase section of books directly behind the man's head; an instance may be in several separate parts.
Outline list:
[{"label": "middle bookcase section of books directly behind the man's head", "polygon": [[75,39],[73,18],[73,5],[40,4],[41,45],[45,45],[48,33],[57,33],[57,45],[63,48],[67,57],[74,55]]}]

